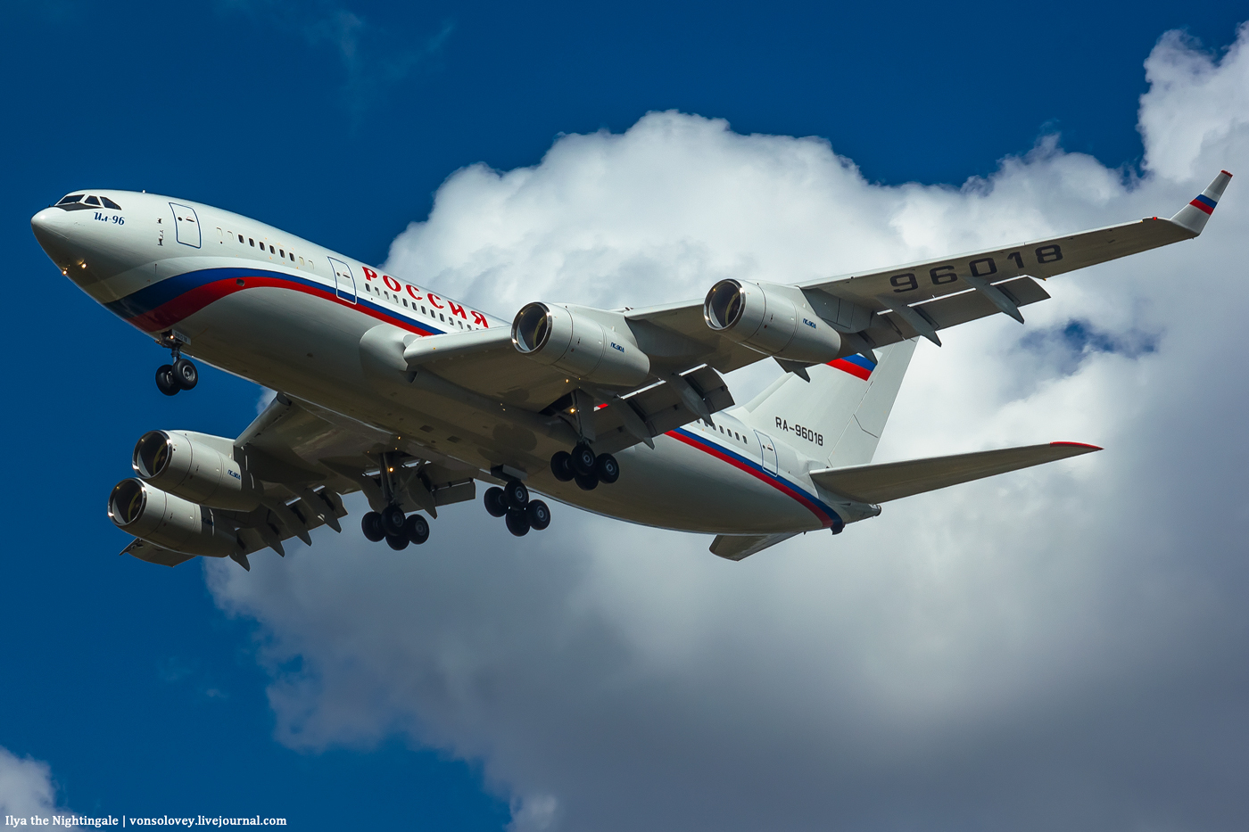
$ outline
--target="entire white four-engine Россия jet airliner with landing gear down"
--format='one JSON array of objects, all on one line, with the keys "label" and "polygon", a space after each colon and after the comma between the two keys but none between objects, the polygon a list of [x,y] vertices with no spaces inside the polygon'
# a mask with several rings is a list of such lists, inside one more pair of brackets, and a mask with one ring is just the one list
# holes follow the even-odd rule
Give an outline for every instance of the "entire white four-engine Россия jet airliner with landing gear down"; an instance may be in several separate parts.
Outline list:
[{"label": "entire white four-engine \u0420\u043e\u0441\u0441\u0438\u044f jet airliner with landing gear down", "polygon": [[[545,530],[532,492],[608,517],[714,535],[742,560],[794,535],[876,517],[882,502],[1100,450],[1049,442],[872,463],[921,337],[988,315],[1023,322],[1038,282],[1198,236],[1232,175],[1148,217],[931,262],[773,284],[721,280],[648,309],[557,302],[511,322],[269,225],[155,194],[79,190],[31,220],[61,274],[167,349],[277,391],[235,438],[159,430],[109,496],[122,553],[251,568],[264,548],[341,531],[423,543],[475,500],[513,535]],[[412,275],[420,279],[420,275]],[[722,374],[783,370],[734,402]]]}]

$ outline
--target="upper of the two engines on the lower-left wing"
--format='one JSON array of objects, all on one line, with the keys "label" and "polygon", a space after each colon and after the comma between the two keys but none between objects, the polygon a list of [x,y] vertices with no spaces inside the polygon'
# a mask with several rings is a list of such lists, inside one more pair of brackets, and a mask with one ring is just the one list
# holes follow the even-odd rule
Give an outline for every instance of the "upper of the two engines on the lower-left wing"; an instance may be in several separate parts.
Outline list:
[{"label": "upper of the two engines on the lower-left wing", "polygon": [[149,431],[135,445],[131,466],[145,482],[186,500],[215,508],[251,511],[260,505],[261,487],[232,456],[205,433]]}]

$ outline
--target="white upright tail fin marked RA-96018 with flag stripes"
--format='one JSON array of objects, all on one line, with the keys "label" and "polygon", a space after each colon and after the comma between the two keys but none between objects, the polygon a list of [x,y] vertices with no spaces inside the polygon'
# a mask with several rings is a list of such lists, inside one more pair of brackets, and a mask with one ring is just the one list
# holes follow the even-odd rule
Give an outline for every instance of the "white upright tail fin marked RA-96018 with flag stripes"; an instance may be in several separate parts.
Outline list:
[{"label": "white upright tail fin marked RA-96018 with flag stripes", "polygon": [[828,467],[871,462],[916,340],[881,347],[879,364],[852,355],[808,367],[811,381],[787,372],[756,396],[741,417],[777,438],[813,437],[793,443],[814,451],[817,458],[823,455]]}]

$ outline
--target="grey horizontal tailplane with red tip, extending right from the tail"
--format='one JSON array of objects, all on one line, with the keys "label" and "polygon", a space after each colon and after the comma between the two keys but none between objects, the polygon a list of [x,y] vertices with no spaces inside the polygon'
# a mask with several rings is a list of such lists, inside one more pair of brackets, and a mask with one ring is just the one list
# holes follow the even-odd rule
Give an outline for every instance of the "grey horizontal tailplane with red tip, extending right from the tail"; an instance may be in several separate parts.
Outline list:
[{"label": "grey horizontal tailplane with red tip, extending right from the tail", "polygon": [[811,478],[822,488],[848,500],[876,503],[1100,450],[1079,442],[1050,442],[906,462],[823,468],[812,471]]}]

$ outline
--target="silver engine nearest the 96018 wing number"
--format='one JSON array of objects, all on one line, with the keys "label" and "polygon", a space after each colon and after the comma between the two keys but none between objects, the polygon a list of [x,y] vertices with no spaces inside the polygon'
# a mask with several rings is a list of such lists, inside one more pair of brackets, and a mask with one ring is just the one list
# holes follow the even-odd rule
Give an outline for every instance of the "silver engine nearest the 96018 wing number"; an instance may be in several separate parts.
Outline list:
[{"label": "silver engine nearest the 96018 wing number", "polygon": [[842,350],[842,336],[794,286],[722,280],[707,292],[703,317],[724,337],[787,361],[824,364]]}]

